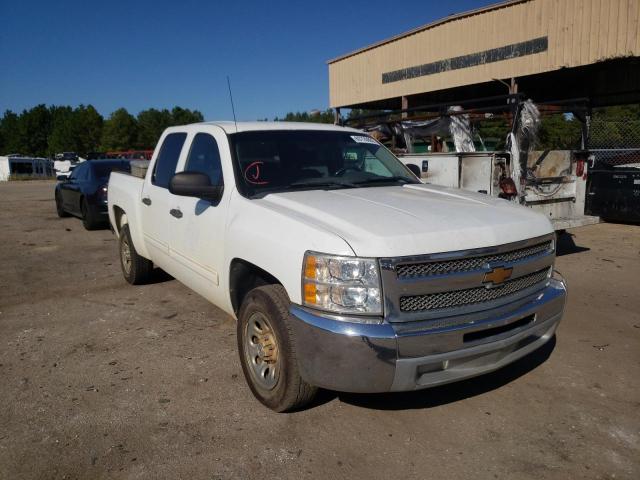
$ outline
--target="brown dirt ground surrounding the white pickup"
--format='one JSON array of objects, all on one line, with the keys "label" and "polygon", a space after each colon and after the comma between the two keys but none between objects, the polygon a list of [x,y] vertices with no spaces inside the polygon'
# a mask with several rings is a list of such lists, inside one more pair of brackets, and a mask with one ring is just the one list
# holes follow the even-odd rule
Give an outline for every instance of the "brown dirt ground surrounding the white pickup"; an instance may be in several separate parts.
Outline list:
[{"label": "brown dirt ground surrounding the white pickup", "polygon": [[324,391],[276,414],[227,315],[125,283],[53,184],[0,184],[0,478],[640,478],[640,227],[565,236],[557,340],[431,390]]}]

